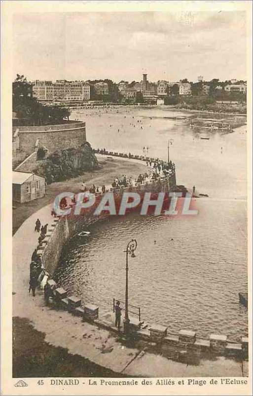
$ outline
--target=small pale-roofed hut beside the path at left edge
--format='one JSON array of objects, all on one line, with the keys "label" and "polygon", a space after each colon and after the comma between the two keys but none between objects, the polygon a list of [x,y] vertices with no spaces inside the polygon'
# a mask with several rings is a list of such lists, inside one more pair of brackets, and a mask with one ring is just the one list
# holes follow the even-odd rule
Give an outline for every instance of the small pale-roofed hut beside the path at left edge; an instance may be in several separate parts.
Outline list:
[{"label": "small pale-roofed hut beside the path at left edge", "polygon": [[34,173],[12,172],[12,199],[29,202],[45,195],[45,179]]}]

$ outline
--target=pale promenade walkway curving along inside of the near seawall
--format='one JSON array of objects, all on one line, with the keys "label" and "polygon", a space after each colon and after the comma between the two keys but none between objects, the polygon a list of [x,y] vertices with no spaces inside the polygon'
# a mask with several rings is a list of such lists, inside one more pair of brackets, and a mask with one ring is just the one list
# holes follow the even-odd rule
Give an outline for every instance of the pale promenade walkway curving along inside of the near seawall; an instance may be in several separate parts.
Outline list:
[{"label": "pale promenade walkway curving along inside of the near seawall", "polygon": [[[31,255],[37,246],[36,219],[41,224],[52,221],[52,203],[32,214],[13,236],[13,316],[28,318],[34,328],[45,334],[45,342],[67,348],[72,354],[131,376],[212,377],[247,375],[247,363],[218,357],[201,360],[200,365],[175,362],[145,350],[123,346],[118,337],[63,310],[45,305],[42,291],[28,293]],[[107,352],[107,353],[106,353]]]}]

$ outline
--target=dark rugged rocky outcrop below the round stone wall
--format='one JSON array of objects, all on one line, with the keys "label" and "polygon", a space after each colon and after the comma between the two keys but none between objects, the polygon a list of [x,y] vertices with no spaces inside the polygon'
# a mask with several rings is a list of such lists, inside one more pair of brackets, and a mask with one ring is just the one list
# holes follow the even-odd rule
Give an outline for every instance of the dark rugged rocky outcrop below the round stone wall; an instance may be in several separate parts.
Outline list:
[{"label": "dark rugged rocky outcrop below the round stone wall", "polygon": [[77,177],[82,172],[98,168],[98,160],[88,142],[79,148],[54,151],[38,161],[34,172],[43,176],[47,184]]}]

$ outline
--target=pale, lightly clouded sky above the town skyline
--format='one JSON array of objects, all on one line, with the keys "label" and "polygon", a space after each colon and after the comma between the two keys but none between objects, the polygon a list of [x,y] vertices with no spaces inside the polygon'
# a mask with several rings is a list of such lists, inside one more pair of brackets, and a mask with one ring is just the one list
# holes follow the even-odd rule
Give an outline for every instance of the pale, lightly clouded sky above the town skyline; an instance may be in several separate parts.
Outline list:
[{"label": "pale, lightly clouded sky above the town skyline", "polygon": [[13,78],[246,80],[246,14],[80,12],[13,15]]}]

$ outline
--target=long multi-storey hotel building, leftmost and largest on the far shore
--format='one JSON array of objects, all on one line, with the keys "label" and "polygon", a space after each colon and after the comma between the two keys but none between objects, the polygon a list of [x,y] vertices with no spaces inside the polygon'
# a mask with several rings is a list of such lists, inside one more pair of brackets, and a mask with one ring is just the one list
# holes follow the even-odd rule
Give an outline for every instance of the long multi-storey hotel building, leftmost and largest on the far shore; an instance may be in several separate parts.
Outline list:
[{"label": "long multi-storey hotel building, leftmost and largest on the far shore", "polygon": [[90,100],[90,83],[88,81],[56,80],[33,83],[33,96],[42,101],[53,100]]}]

